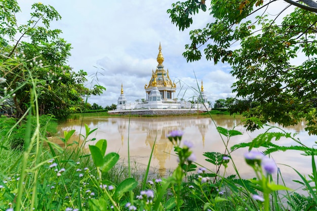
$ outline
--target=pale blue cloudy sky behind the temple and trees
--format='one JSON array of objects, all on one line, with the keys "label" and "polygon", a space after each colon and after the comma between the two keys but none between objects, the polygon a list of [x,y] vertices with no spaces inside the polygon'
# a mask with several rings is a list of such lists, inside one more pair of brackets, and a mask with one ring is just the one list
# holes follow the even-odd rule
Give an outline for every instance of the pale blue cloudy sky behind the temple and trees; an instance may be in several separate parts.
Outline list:
[{"label": "pale blue cloudy sky behind the temple and trees", "polygon": [[[35,1],[18,2],[22,13],[17,17],[23,24]],[[83,69],[89,75],[96,75],[98,83],[106,87],[101,96],[90,97],[91,104],[96,102],[103,107],[116,104],[122,83],[128,103],[145,98],[144,85],[157,66],[160,42],[165,58],[163,65],[169,69],[170,78],[177,82],[178,98],[189,99],[197,95],[195,89],[197,83],[201,85],[201,80],[212,103],[219,98],[234,96],[230,87],[235,79],[227,64],[215,66],[206,59],[187,63],[182,56],[184,45],[189,43],[189,31],[203,28],[212,21],[208,12],[200,12],[194,17],[190,29],[179,31],[166,12],[176,2],[173,0],[41,2],[53,6],[62,16],[51,27],[61,29],[61,37],[72,44],[69,66],[75,71]],[[92,76],[87,87],[96,83]]]}]

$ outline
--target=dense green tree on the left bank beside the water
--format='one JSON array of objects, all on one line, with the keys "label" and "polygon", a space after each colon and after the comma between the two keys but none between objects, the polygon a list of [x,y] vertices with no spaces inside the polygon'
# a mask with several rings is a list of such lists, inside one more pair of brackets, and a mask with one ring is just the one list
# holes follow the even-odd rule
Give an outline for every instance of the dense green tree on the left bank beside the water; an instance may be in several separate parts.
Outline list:
[{"label": "dense green tree on the left bank beside the water", "polygon": [[[0,6],[0,76],[6,79],[0,84],[0,95],[12,90],[18,118],[28,107],[33,80],[41,114],[57,118],[84,110],[85,96],[105,90],[100,85],[86,88],[87,73],[75,72],[67,65],[71,45],[60,37],[61,30],[50,29],[52,21],[61,19],[53,7],[35,3],[30,20],[17,25],[15,15],[21,12],[17,2],[0,1]],[[24,37],[29,41],[23,41]]]}]

